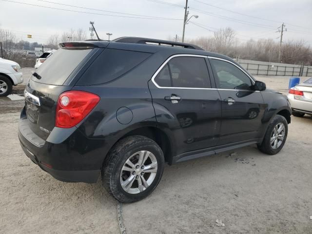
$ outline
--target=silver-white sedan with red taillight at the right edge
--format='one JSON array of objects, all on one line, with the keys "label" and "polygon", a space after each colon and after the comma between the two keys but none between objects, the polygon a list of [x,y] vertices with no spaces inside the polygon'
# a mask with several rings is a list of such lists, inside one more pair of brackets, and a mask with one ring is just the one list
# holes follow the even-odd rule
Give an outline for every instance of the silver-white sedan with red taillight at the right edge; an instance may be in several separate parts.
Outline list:
[{"label": "silver-white sedan with red taillight at the right edge", "polygon": [[291,103],[293,116],[312,116],[312,78],[291,88],[287,98]]}]

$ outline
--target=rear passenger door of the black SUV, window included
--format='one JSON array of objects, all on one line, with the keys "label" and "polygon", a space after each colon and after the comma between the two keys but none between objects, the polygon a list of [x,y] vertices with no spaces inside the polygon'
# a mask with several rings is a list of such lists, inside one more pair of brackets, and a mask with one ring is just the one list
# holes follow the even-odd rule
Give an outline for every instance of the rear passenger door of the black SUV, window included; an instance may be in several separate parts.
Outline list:
[{"label": "rear passenger door of the black SUV, window included", "polygon": [[206,62],[205,56],[175,55],[149,81],[157,124],[173,136],[174,155],[218,141],[221,102]]}]

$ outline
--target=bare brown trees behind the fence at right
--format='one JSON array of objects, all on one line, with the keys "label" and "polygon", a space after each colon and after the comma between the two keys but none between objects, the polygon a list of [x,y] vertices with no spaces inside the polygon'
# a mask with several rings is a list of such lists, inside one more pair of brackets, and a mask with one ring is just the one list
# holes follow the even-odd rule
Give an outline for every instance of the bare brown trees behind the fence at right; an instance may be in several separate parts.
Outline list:
[{"label": "bare brown trees behind the fence at right", "polygon": [[[189,40],[204,50],[227,55],[231,58],[278,62],[279,42],[273,39],[250,39],[239,43],[231,28],[219,29],[213,37]],[[312,48],[304,40],[288,40],[281,45],[281,62],[312,65]]]}]

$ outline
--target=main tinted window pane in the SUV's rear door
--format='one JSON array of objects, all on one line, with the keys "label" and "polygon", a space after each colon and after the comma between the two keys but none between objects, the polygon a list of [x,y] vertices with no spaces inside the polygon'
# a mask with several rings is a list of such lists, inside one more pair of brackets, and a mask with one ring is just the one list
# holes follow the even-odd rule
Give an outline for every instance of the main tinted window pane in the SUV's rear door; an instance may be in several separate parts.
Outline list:
[{"label": "main tinted window pane in the SUV's rear door", "polygon": [[209,88],[208,68],[204,58],[176,57],[169,61],[174,87]]}]

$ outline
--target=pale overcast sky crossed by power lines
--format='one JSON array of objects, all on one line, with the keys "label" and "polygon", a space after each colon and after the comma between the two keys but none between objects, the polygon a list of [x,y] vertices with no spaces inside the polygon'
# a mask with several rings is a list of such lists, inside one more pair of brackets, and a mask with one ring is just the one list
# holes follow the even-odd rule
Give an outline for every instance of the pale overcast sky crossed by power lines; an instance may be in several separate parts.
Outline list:
[{"label": "pale overcast sky crossed by power lines", "polygon": [[[107,32],[113,34],[113,39],[122,36],[174,39],[176,34],[180,38],[182,35],[184,8],[180,6],[185,5],[185,0],[12,1],[33,5],[0,0],[0,27],[12,30],[20,39],[29,40],[30,42],[38,41],[39,43],[44,43],[50,35],[55,33],[61,34],[63,31],[71,28],[82,28],[86,30],[89,37],[90,20],[95,21],[95,27],[101,39],[107,39]],[[161,1],[171,4],[163,4]],[[64,6],[51,2],[103,11]],[[91,12],[99,15],[43,8],[34,5]],[[287,32],[284,33],[284,41],[304,39],[307,44],[312,45],[312,0],[189,0],[189,7],[189,16],[198,15],[199,17],[198,19],[194,17],[191,19],[191,22],[197,25],[192,23],[186,25],[186,39],[213,36],[211,31],[215,31],[217,28],[231,27],[236,32],[235,37],[241,42],[251,39],[251,37],[255,40],[258,38],[271,38],[279,41],[276,38],[280,36],[280,33],[275,32],[282,22],[285,22]],[[163,17],[166,20],[107,16],[139,17],[105,11],[142,15],[143,17],[141,18],[145,16]],[[167,20],[167,18],[170,18],[170,20]],[[33,39],[27,39],[27,34],[33,35]]]}]

